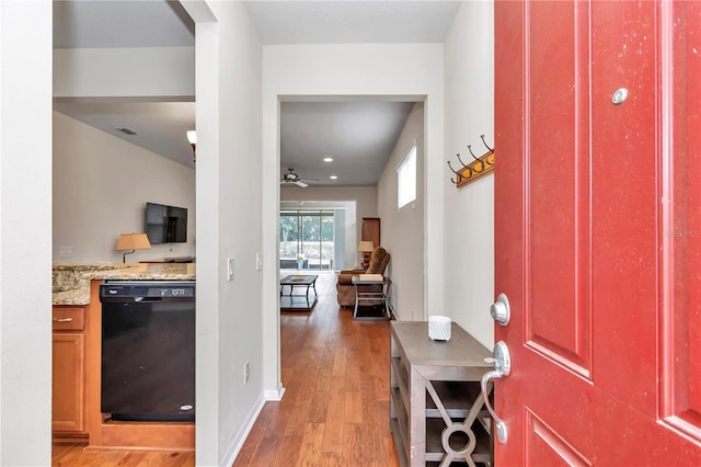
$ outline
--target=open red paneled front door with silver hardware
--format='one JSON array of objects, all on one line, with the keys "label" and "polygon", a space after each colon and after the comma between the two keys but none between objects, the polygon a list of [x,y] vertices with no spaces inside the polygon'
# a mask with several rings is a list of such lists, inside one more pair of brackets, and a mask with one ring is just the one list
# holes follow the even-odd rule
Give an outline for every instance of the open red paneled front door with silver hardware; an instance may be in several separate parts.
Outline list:
[{"label": "open red paneled front door with silver hardware", "polygon": [[496,465],[701,465],[701,2],[496,1],[495,64]]}]

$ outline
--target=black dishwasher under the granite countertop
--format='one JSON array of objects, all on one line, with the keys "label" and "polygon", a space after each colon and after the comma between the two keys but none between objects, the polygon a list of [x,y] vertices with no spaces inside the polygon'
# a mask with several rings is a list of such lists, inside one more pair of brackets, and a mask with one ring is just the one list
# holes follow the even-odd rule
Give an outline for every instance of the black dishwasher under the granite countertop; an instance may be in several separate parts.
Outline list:
[{"label": "black dishwasher under the granite countertop", "polygon": [[105,281],[100,300],[102,412],[194,421],[195,282]]}]

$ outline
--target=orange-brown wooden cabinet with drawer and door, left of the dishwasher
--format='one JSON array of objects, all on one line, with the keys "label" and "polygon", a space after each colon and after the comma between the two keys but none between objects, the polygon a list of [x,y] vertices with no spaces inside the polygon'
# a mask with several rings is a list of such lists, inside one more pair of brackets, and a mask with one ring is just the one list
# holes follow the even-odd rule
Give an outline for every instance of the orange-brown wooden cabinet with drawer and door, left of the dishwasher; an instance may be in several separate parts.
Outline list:
[{"label": "orange-brown wooden cabinet with drawer and door, left of the dishwasher", "polygon": [[55,434],[85,433],[85,309],[54,306],[53,409]]}]

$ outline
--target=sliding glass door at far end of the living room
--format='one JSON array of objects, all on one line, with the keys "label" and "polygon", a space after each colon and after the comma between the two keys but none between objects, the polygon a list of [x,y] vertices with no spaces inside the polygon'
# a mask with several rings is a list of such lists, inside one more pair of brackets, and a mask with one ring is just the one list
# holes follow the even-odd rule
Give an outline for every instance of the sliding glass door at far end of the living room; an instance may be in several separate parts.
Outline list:
[{"label": "sliding glass door at far end of the living room", "polygon": [[280,269],[333,270],[332,210],[280,213]]}]

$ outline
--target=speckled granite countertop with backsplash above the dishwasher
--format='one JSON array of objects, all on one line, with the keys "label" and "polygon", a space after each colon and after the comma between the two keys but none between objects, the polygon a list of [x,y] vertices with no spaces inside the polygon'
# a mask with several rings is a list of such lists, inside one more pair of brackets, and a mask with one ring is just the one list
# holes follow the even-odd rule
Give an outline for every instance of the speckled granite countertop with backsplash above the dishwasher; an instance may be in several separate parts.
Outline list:
[{"label": "speckled granite countertop with backsplash above the dishwasher", "polygon": [[55,264],[55,271],[72,272],[80,280],[68,285],[54,284],[54,305],[88,305],[90,281],[194,281],[195,263],[127,263],[127,264]]}]

